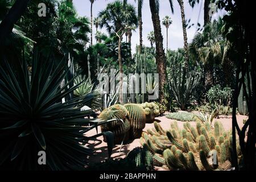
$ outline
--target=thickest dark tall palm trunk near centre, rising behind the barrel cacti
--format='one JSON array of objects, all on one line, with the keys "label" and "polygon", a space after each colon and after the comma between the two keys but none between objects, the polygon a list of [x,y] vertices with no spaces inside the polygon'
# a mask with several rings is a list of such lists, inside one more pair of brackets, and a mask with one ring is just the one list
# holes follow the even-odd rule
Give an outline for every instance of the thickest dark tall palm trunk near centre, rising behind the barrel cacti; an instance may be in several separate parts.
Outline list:
[{"label": "thickest dark tall palm trunk near centre, rising behind the barrel cacti", "polygon": [[161,32],[159,13],[156,10],[155,0],[150,0],[150,10],[154,26],[155,45],[156,45],[156,65],[159,73],[159,101],[164,99],[164,85],[166,84],[166,55],[163,50],[163,36]]}]

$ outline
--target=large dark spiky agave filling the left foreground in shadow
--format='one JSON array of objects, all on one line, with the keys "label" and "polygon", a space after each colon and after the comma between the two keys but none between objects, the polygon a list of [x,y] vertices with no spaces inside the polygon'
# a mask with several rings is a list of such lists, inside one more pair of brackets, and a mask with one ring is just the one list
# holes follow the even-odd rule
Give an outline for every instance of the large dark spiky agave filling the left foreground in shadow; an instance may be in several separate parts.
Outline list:
[{"label": "large dark spiky agave filling the left foreground in shadow", "polygon": [[[82,83],[60,88],[68,69],[63,62],[53,67],[52,60],[42,60],[37,53],[32,59],[32,74],[28,76],[26,62],[15,68],[6,60],[0,65],[0,169],[73,170],[84,169],[86,156],[93,148],[85,147],[89,131],[106,122],[85,119],[92,110],[80,111],[93,99],[93,94],[61,99],[74,92]],[[81,127],[87,125],[89,127]],[[106,132],[109,152],[113,133]],[[46,152],[46,165],[38,164],[39,151]]]}]

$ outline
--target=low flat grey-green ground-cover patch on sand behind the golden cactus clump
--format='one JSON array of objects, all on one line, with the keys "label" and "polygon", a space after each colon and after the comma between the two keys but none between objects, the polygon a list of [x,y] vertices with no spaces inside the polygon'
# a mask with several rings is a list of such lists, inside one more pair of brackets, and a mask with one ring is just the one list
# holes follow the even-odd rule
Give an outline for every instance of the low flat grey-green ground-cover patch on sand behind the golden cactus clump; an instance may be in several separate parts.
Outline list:
[{"label": "low flat grey-green ground-cover patch on sand behind the golden cactus clump", "polygon": [[203,119],[203,117],[201,117],[200,115],[197,115],[194,113],[188,113],[184,111],[177,112],[177,113],[170,113],[170,114],[167,114],[166,117],[168,119],[175,119],[178,121],[196,121],[196,118]]}]

